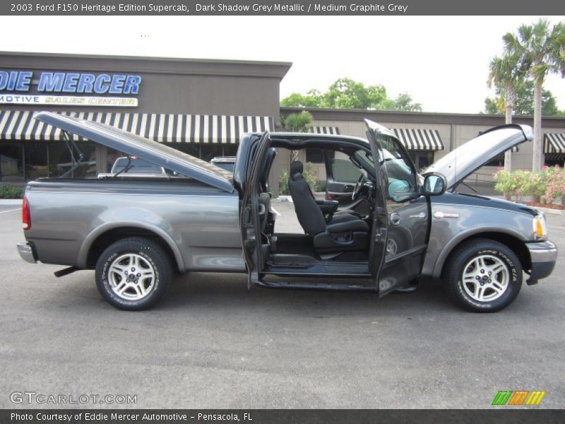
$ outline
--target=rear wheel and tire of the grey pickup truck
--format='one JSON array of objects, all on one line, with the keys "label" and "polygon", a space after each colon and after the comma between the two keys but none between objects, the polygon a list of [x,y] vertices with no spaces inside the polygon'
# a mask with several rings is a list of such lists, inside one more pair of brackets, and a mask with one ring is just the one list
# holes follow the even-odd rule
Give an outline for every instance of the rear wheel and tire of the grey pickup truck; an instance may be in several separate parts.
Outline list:
[{"label": "rear wheel and tire of the grey pickup truck", "polygon": [[165,295],[172,266],[165,251],[155,242],[127,238],[102,252],[95,276],[98,291],[110,305],[141,311],[153,307]]}]

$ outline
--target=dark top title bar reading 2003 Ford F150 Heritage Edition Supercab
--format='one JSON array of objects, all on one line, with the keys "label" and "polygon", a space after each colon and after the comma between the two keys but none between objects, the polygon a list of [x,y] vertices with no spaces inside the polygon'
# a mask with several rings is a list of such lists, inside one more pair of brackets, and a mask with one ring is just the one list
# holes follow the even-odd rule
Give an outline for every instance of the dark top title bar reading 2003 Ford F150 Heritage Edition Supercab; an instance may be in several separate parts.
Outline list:
[{"label": "dark top title bar reading 2003 Ford F150 Heritage Edition Supercab", "polygon": [[[432,16],[482,15],[519,16],[563,14],[561,1],[453,1],[453,0],[388,0],[388,1],[275,1],[275,0],[32,0],[1,1],[0,13],[12,16]],[[480,30],[480,28],[477,28]]]}]

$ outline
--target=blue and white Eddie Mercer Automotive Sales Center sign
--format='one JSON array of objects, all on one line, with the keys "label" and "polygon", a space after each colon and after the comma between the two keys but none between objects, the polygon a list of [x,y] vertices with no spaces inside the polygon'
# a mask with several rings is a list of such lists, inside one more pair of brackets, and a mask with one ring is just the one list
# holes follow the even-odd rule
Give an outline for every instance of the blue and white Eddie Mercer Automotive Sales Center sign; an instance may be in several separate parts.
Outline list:
[{"label": "blue and white Eddie Mercer Automotive Sales Center sign", "polygon": [[141,76],[0,69],[0,104],[137,107]]}]

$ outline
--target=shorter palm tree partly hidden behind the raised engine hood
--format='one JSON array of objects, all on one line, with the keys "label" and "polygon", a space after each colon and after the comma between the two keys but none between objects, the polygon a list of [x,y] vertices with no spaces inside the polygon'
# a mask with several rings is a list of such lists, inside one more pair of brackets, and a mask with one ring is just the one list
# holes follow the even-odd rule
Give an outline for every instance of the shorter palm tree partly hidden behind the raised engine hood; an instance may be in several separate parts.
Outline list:
[{"label": "shorter palm tree partly hidden behind the raised engine hood", "polygon": [[[516,100],[516,88],[523,83],[524,72],[521,68],[520,57],[516,54],[504,54],[503,57],[494,57],[490,61],[490,73],[487,84],[501,89],[502,97],[499,109],[506,112],[506,124],[512,123],[512,111]],[[512,151],[504,153],[504,169],[512,169]]]}]

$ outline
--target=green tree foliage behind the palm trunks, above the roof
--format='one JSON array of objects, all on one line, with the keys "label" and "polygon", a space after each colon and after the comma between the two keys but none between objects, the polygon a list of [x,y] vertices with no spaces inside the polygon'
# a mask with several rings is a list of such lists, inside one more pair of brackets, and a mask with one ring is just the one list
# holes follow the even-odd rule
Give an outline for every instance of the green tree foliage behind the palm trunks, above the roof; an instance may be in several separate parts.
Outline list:
[{"label": "green tree foliage behind the palm trunks, above the roof", "polygon": [[[501,114],[504,112],[504,99],[502,89],[497,87],[494,98],[484,99],[484,112],[489,114]],[[513,111],[516,115],[534,114],[534,83],[531,80],[525,81],[516,87],[516,94],[513,101]],[[559,110],[557,99],[549,90],[542,90],[542,116],[563,117],[565,110]]]}]

